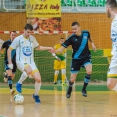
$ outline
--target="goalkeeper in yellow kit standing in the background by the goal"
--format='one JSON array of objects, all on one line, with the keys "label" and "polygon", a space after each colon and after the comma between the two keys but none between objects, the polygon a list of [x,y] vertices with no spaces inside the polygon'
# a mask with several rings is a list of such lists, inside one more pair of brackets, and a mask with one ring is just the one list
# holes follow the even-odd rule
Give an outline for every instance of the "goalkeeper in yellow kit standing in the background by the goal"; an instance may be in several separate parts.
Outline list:
[{"label": "goalkeeper in yellow kit standing in the background by the goal", "polygon": [[[54,46],[54,49],[57,50],[62,46],[62,43],[64,42],[64,38],[60,38],[60,43],[56,44]],[[55,57],[54,60],[54,84],[57,84],[57,79],[58,79],[58,74],[59,71],[61,70],[61,78],[62,78],[62,84],[65,85],[65,80],[66,80],[66,50],[58,53],[53,53],[52,54]]]}]

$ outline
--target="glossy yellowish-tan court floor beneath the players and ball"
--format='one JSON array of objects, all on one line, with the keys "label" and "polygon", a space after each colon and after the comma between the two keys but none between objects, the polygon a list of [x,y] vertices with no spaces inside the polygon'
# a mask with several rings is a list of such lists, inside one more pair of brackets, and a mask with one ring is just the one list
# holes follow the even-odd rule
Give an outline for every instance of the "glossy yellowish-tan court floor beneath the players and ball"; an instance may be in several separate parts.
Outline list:
[{"label": "glossy yellowish-tan court floor beneath the players and ball", "polygon": [[35,104],[34,89],[23,88],[24,102],[15,104],[7,87],[0,88],[0,117],[117,117],[117,93],[88,91],[83,97],[73,90],[66,98],[66,87],[58,90],[40,90],[40,104]]}]

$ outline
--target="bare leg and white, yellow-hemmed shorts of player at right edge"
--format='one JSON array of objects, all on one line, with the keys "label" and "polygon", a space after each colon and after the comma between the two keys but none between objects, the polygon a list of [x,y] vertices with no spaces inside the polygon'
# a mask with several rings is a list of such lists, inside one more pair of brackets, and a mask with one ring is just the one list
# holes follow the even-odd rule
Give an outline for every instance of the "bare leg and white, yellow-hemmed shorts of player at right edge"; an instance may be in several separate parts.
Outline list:
[{"label": "bare leg and white, yellow-hemmed shorts of player at right edge", "polygon": [[117,92],[117,60],[111,59],[109,71],[107,74],[107,87]]}]

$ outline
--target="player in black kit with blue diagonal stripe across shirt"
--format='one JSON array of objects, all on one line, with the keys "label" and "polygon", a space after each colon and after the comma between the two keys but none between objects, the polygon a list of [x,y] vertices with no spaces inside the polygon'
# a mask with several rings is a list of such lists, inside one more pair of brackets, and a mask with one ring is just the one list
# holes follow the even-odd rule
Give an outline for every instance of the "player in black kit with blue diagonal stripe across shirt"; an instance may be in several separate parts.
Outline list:
[{"label": "player in black kit with blue diagonal stripe across shirt", "polygon": [[82,66],[86,69],[86,75],[84,77],[84,85],[81,92],[84,97],[87,97],[86,87],[92,74],[91,53],[89,51],[88,41],[91,42],[94,51],[96,51],[96,47],[91,39],[89,31],[81,30],[78,22],[73,22],[71,26],[73,34],[68,37],[68,39],[62,44],[61,48],[55,50],[55,53],[63,51],[69,45],[72,46],[71,78],[69,80],[66,97],[70,98],[72,86]]}]

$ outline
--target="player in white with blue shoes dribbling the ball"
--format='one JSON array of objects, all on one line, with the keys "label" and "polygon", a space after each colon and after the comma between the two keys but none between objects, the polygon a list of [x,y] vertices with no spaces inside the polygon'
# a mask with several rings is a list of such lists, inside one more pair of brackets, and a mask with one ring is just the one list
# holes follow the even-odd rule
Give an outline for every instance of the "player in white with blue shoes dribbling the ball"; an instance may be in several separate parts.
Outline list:
[{"label": "player in white with blue shoes dribbling the ball", "polygon": [[35,79],[35,92],[33,94],[33,98],[36,103],[40,103],[38,92],[41,87],[41,76],[34,62],[34,49],[52,51],[53,48],[39,46],[39,43],[36,41],[35,37],[31,35],[32,30],[32,25],[26,24],[24,27],[24,33],[15,38],[10,45],[7,54],[9,67],[12,69],[13,64],[11,62],[11,51],[12,49],[16,49],[17,67],[20,71],[22,71],[22,75],[19,81],[16,83],[16,90],[19,93],[22,93],[22,82],[28,76],[32,76]]}]

